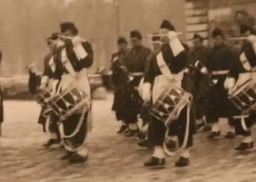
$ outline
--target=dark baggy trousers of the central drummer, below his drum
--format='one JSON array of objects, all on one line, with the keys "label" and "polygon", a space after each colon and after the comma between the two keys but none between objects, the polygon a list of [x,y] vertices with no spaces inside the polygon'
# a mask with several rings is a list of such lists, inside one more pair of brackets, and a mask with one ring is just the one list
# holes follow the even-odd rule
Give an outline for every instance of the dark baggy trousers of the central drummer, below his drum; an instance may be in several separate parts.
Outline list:
[{"label": "dark baggy trousers of the central drummer, below his drum", "polygon": [[[195,134],[195,117],[193,116],[193,112],[190,111],[190,122],[189,122],[189,132],[188,132],[188,140],[186,147],[193,146],[193,136]],[[186,121],[187,121],[187,106],[181,111],[179,118],[175,120],[172,124],[170,124],[169,128],[173,131],[173,135],[178,136],[179,147],[182,146],[183,141],[185,139],[185,131],[186,131]],[[165,140],[165,132],[166,127],[164,124],[156,119],[152,118],[152,132],[151,132],[151,141],[155,146],[163,146]]]}]

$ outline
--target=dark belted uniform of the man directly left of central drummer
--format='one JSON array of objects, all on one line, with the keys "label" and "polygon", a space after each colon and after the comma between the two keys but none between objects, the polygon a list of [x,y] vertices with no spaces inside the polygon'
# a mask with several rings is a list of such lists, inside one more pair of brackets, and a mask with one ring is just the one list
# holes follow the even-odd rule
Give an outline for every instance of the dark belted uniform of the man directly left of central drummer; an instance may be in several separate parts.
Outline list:
[{"label": "dark belted uniform of the man directly left of central drummer", "polygon": [[[124,89],[123,101],[125,103],[125,110],[123,112],[125,123],[136,123],[137,116],[141,112],[143,100],[140,97],[136,87],[142,79],[145,69],[146,58],[150,55],[151,49],[143,45],[133,47],[130,53],[124,60],[124,64],[127,68],[129,75],[133,77],[133,80],[126,84]],[[136,74],[140,73],[140,74]]]}]

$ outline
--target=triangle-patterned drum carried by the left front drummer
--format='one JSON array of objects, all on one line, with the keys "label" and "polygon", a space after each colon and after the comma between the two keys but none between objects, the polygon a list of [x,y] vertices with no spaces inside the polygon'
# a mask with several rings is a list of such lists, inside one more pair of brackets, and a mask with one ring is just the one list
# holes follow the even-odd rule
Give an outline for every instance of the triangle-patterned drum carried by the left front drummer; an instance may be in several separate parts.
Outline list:
[{"label": "triangle-patterned drum carried by the left front drummer", "polygon": [[60,120],[65,120],[74,113],[82,113],[84,108],[86,108],[86,112],[89,111],[91,99],[86,93],[71,84],[59,94],[49,98],[48,105],[60,117]]}]

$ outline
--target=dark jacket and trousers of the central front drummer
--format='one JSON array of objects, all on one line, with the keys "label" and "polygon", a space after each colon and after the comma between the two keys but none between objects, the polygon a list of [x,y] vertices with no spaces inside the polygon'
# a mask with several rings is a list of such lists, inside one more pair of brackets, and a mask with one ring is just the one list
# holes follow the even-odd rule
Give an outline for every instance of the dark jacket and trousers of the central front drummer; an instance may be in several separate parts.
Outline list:
[{"label": "dark jacket and trousers of the central front drummer", "polygon": [[[182,51],[178,56],[174,57],[173,51],[168,44],[163,45],[161,48],[161,51],[162,51],[164,62],[167,64],[172,74],[178,74],[184,70],[186,66],[186,61],[187,61],[186,51]],[[150,65],[148,66],[148,69],[146,71],[144,83],[150,83],[151,85],[154,85],[155,79],[159,75],[162,75],[162,72],[160,71],[160,68],[157,64],[157,58],[154,57],[151,60]],[[169,127],[169,128],[172,128],[173,135],[178,136],[180,146],[183,144],[185,129],[187,127],[186,116],[187,116],[187,106],[181,111],[179,118],[176,121],[174,121]],[[190,122],[190,125],[191,125],[191,123],[193,123],[192,114],[190,114],[190,121],[191,121]],[[165,138],[165,129],[166,128],[164,124],[160,120],[152,117],[152,131],[151,131],[152,141],[151,142],[155,146],[163,146],[163,142]],[[193,134],[194,134],[194,129],[190,127],[188,142],[186,145],[187,147],[193,145]]]}]

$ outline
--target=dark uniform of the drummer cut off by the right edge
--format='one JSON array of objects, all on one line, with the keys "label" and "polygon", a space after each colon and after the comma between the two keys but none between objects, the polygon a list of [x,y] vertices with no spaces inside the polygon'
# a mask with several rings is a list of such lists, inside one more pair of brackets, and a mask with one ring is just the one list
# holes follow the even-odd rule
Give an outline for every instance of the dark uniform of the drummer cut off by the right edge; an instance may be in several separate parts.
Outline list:
[{"label": "dark uniform of the drummer cut off by the right edge", "polygon": [[[255,52],[253,50],[253,47],[251,45],[251,43],[248,42],[244,42],[243,46],[242,46],[242,50],[241,50],[241,54],[245,54],[245,57],[247,59],[247,63],[249,63],[250,67],[253,68],[256,66],[256,55]],[[239,74],[241,73],[250,73],[252,70],[246,70],[242,64],[243,60],[236,60],[236,62],[233,63],[232,68],[229,72],[228,77],[229,78],[233,78],[235,81],[238,81],[239,78]],[[254,74],[254,73],[253,73]],[[242,82],[243,83],[243,82]],[[237,108],[233,107],[233,111],[234,111],[234,116],[239,116],[241,115],[241,111],[238,110]],[[256,113],[255,112],[250,112],[249,116],[246,117],[245,120],[245,126],[247,128],[251,127],[254,123],[256,119]],[[247,129],[245,129],[242,126],[242,122],[241,119],[236,119],[234,121],[234,126],[236,129],[236,134],[237,135],[243,135],[243,136],[248,136],[250,135],[250,131],[248,131]]]}]

